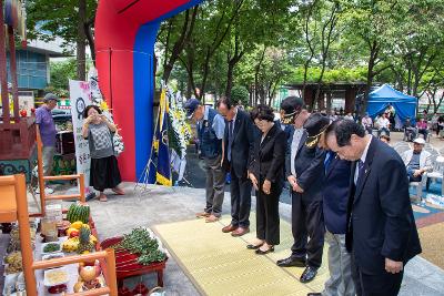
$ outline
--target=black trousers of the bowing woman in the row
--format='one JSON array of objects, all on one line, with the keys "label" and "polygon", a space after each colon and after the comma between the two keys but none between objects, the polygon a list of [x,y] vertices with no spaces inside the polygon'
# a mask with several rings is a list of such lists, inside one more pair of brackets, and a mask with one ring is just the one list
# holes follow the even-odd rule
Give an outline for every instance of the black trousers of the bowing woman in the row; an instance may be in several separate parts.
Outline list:
[{"label": "black trousers of the bowing woman in the row", "polygon": [[262,188],[256,191],[256,236],[273,246],[280,243],[279,197],[282,185],[282,182],[272,184],[270,194]]}]

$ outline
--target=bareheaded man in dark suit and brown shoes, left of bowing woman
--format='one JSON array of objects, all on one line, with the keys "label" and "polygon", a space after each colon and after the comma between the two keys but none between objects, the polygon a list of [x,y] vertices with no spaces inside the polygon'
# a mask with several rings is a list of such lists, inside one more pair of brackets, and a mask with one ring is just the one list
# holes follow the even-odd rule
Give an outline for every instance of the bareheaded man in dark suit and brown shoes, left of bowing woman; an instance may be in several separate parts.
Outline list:
[{"label": "bareheaded man in dark suit and brown shoes, left of bowing woman", "polygon": [[248,164],[254,150],[254,136],[258,130],[249,114],[233,105],[228,98],[218,102],[218,109],[225,119],[223,137],[223,167],[230,172],[231,183],[231,224],[222,232],[232,236],[242,236],[250,232],[251,181],[248,177]]}]

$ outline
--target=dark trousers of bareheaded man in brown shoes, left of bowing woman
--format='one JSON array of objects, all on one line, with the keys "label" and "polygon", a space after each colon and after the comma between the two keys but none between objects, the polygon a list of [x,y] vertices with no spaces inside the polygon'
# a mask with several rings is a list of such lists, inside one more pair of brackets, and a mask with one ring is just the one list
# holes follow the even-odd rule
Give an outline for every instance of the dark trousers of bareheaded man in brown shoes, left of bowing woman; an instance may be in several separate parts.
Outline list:
[{"label": "dark trousers of bareheaded man in brown shoes, left of bowing woman", "polygon": [[233,169],[230,172],[231,194],[231,224],[233,226],[250,227],[251,181],[245,174],[238,176]]}]

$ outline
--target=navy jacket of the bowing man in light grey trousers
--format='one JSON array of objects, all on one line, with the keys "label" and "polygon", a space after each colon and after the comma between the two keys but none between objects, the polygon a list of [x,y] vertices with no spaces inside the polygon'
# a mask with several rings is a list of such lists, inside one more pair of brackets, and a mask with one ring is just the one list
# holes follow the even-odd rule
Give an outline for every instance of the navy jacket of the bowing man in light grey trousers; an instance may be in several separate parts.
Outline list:
[{"label": "navy jacket of the bowing man in light grey trousers", "polygon": [[325,227],[333,234],[345,234],[351,164],[335,153],[325,170],[323,210]]}]

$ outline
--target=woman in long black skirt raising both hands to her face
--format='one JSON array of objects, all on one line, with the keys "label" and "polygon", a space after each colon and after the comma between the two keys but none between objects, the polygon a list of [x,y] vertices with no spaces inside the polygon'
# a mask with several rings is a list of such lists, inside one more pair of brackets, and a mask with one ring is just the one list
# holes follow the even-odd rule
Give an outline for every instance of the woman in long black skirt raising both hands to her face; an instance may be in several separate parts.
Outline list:
[{"label": "woman in long black skirt raising both hands to her face", "polygon": [[99,200],[107,202],[105,188],[112,188],[119,195],[124,194],[119,187],[122,180],[112,143],[112,134],[117,129],[97,105],[87,106],[83,118],[82,135],[88,139],[91,155],[90,185],[100,192]]}]

